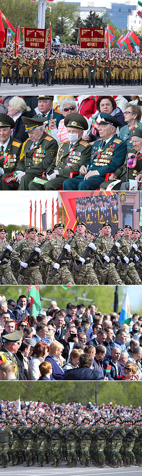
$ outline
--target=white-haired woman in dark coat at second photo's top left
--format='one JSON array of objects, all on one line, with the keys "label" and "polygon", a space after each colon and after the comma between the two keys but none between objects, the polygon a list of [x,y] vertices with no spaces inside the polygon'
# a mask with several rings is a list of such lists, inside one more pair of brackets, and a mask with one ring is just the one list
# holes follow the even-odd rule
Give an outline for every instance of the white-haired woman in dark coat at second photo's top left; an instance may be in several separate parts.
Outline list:
[{"label": "white-haired woman in dark coat at second photo's top left", "polygon": [[15,122],[14,129],[11,129],[11,136],[14,137],[14,139],[21,140],[22,143],[25,142],[25,140],[28,139],[28,134],[25,132],[25,125],[21,116],[32,118],[33,113],[30,107],[26,105],[24,99],[19,98],[19,96],[14,96],[9,101],[8,115]]}]

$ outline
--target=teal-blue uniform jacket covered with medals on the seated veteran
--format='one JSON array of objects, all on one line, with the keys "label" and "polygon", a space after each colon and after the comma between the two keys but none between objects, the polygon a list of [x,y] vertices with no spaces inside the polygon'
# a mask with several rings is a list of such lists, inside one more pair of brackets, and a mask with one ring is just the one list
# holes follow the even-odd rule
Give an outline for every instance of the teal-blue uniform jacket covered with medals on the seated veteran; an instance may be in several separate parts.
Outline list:
[{"label": "teal-blue uniform jacket covered with medals on the seated veteran", "polygon": [[[119,167],[124,164],[127,154],[127,146],[124,140],[119,139],[115,134],[105,146],[102,147],[103,139],[98,139],[91,151],[91,159],[85,164],[85,167],[89,165],[89,170],[98,170],[100,177],[106,177],[107,173],[114,173]],[[101,152],[98,156],[98,148],[102,148],[104,152]],[[104,165],[99,165],[104,163]],[[89,171],[88,170],[88,171]]]}]

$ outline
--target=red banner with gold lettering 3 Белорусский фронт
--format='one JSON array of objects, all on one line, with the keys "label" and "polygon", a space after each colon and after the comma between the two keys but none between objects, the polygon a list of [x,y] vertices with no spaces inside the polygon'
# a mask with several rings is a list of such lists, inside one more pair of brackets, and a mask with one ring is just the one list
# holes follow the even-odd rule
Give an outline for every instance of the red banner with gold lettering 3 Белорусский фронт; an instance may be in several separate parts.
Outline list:
[{"label": "red banner with gold lettering 3 \u0411\u0435\u043b\u043e\u0440\u0443\u0441\u0441\u043a\u0438\u0439 \u0444\u0440\u043e\u043d\u0442", "polygon": [[47,30],[38,28],[24,28],[24,46],[28,50],[31,48],[44,50],[46,46]]}]

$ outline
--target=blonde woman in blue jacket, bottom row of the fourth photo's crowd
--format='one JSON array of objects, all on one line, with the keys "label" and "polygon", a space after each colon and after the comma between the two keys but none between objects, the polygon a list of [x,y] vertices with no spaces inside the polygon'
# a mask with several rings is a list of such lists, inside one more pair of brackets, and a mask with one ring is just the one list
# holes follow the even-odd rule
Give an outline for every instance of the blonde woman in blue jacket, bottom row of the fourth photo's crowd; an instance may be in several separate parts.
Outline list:
[{"label": "blonde woman in blue jacket, bottom row of the fourth photo's crowd", "polygon": [[50,379],[62,380],[64,376],[64,370],[62,369],[61,355],[63,351],[63,345],[58,342],[52,342],[49,347],[49,355],[45,358],[45,361],[51,362],[53,373]]}]

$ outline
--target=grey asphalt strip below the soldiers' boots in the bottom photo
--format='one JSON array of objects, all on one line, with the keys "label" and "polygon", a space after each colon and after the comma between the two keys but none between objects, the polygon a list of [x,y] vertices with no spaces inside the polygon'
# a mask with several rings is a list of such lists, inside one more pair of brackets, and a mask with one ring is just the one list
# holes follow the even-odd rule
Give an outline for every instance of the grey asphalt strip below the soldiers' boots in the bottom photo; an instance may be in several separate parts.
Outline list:
[{"label": "grey asphalt strip below the soldiers' boots in the bottom photo", "polygon": [[[25,463],[24,463],[25,464]],[[43,468],[38,468],[37,463],[35,466],[24,468],[24,464],[20,466],[12,466],[5,469],[0,469],[0,476],[98,476],[98,475],[118,475],[124,476],[127,473],[129,476],[137,476],[137,473],[142,474],[142,469],[139,466],[131,466],[130,468],[118,468],[113,469],[106,466],[104,469],[96,468],[95,466],[90,466],[89,468],[81,468],[78,464],[76,468],[72,467],[71,469],[65,466],[65,463],[62,463],[62,466],[57,468],[52,468],[51,464],[48,466],[44,466]],[[140,476],[140,475],[139,475]]]}]

